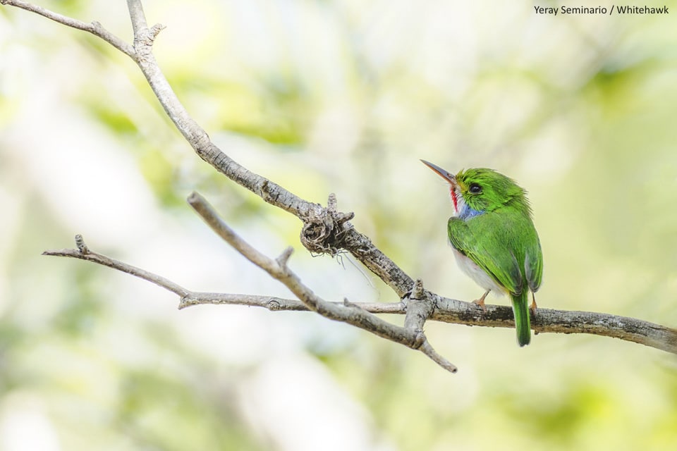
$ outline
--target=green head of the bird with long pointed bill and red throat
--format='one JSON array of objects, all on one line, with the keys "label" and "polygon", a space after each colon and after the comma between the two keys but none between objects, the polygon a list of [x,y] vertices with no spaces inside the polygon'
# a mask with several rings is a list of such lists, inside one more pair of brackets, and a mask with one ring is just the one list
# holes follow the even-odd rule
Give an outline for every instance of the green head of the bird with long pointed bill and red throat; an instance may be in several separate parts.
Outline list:
[{"label": "green head of the bird with long pointed bill and red throat", "polygon": [[429,161],[421,161],[449,183],[453,216],[470,218],[503,206],[516,206],[531,214],[525,191],[493,169],[471,168],[453,175]]}]

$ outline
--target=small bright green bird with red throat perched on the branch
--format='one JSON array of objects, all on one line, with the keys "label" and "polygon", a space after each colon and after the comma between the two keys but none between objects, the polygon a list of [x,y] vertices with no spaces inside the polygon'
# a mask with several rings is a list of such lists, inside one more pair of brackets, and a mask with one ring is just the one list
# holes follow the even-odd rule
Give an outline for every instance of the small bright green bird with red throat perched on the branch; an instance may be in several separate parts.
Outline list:
[{"label": "small bright green bird with red throat perched on the branch", "polygon": [[520,346],[528,345],[528,294],[531,290],[535,311],[543,253],[525,190],[493,169],[466,169],[453,175],[421,161],[449,183],[453,215],[447,230],[453,254],[463,272],[486,290],[475,304],[486,308],[484,298],[490,291],[509,295],[517,341]]}]

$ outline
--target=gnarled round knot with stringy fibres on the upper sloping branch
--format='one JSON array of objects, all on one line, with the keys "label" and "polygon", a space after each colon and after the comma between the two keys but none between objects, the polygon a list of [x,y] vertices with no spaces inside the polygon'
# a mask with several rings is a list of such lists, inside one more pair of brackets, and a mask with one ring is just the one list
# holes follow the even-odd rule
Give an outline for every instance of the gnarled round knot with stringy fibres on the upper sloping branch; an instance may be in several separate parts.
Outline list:
[{"label": "gnarled round knot with stringy fibres on the upper sloping branch", "polygon": [[355,217],[353,212],[342,213],[336,209],[336,194],[329,194],[327,208],[319,213],[310,210],[303,218],[301,243],[312,254],[336,256],[343,249],[343,235],[351,226],[348,223]]}]

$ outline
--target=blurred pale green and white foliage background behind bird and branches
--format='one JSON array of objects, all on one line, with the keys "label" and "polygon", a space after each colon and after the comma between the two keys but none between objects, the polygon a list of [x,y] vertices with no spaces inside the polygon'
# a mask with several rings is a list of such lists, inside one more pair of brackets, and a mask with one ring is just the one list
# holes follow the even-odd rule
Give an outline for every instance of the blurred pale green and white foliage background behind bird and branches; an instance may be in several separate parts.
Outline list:
[{"label": "blurred pale green and white foliage background behind bird and branches", "polygon": [[[130,41],[123,1],[39,4]],[[611,7],[568,6],[581,4]],[[489,0],[145,10],[167,25],[161,67],[216,144],[301,197],[336,192],[430,290],[481,291],[451,258],[446,188],[420,158],[489,166],[530,192],[539,306],[677,327],[666,5],[669,16]],[[198,159],[125,56],[0,7],[0,450],[677,449],[677,359],[652,348],[542,334],[520,349],[513,330],[428,323],[452,376],[312,314],[178,311],[154,285],[40,256],[82,233],[193,290],[290,296],[207,230],[185,204],[192,190],[263,252],[294,245],[291,266],[326,299],[396,300],[353,259],[310,257],[296,218]]]}]

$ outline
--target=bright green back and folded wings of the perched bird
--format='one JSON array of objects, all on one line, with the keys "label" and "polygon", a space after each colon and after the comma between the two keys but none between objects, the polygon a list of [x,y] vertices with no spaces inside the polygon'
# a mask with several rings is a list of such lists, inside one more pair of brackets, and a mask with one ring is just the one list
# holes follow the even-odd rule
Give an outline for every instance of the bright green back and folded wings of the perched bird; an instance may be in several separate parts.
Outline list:
[{"label": "bright green back and folded wings of the perched bird", "polygon": [[543,257],[528,216],[499,210],[467,221],[449,218],[449,241],[513,295],[520,295],[525,282],[538,290]]}]

